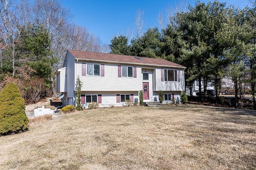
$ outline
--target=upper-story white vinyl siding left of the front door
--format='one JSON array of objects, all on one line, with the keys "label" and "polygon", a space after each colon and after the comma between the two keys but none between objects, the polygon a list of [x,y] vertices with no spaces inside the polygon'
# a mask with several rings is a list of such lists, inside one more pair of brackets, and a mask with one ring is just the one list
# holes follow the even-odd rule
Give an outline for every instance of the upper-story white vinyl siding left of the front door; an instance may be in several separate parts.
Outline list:
[{"label": "upper-story white vinyl siding left of the front door", "polygon": [[[86,62],[86,64],[90,64]],[[95,63],[94,63],[95,64]],[[82,76],[82,63],[77,64],[77,76],[82,81],[82,91],[139,91],[141,68],[137,67],[136,78],[118,77],[118,64],[104,64],[103,76]],[[132,73],[133,74],[133,73]]]}]

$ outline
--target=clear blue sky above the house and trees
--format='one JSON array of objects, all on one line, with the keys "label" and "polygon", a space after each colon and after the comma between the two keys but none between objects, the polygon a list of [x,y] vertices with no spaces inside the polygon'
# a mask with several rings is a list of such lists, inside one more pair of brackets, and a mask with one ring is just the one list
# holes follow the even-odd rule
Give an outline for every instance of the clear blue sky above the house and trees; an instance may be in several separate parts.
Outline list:
[{"label": "clear blue sky above the house and trees", "polygon": [[[213,2],[213,0],[210,0]],[[144,11],[145,29],[159,27],[158,14],[168,6],[175,7],[180,0],[61,0],[64,7],[70,8],[77,25],[84,26],[90,33],[100,37],[103,43],[110,43],[115,35],[126,35],[127,30],[134,28],[136,12]],[[188,0],[194,6],[196,0]],[[207,3],[208,0],[200,2]],[[244,8],[250,6],[248,0],[219,0],[227,6]],[[145,31],[145,30],[144,30]]]}]

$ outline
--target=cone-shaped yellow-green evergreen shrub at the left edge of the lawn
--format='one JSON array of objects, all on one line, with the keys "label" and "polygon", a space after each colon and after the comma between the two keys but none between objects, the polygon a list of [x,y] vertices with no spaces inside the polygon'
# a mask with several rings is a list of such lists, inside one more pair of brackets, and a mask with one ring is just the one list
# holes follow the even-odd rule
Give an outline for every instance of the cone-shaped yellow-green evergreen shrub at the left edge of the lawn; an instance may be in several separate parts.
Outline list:
[{"label": "cone-shaped yellow-green evergreen shrub at the left edge of the lawn", "polygon": [[16,84],[10,82],[1,90],[0,106],[0,135],[28,129],[25,102]]}]

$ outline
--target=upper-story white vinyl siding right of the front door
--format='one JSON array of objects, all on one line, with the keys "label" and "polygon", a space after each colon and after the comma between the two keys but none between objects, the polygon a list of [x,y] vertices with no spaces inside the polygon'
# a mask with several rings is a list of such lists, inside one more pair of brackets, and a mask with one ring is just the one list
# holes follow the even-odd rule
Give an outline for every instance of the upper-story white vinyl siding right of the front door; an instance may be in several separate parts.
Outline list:
[{"label": "upper-story white vinyl siding right of the front door", "polygon": [[154,72],[156,77],[156,85],[154,86],[154,91],[184,91],[184,70],[180,70],[180,82],[172,81],[161,81],[161,68],[156,68]]}]

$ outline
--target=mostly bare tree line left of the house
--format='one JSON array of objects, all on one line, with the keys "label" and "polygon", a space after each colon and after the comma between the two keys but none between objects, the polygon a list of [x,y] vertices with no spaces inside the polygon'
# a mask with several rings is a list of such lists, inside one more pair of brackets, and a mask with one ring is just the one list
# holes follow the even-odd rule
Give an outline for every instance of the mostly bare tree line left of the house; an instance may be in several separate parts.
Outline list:
[{"label": "mostly bare tree line left of the house", "polygon": [[1,88],[15,82],[29,102],[55,94],[54,72],[67,49],[109,48],[86,27],[76,25],[60,0],[0,0]]}]

